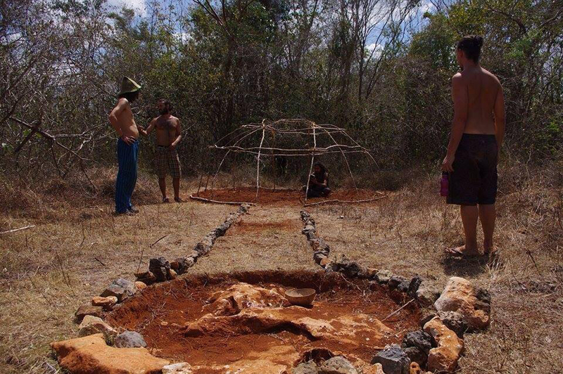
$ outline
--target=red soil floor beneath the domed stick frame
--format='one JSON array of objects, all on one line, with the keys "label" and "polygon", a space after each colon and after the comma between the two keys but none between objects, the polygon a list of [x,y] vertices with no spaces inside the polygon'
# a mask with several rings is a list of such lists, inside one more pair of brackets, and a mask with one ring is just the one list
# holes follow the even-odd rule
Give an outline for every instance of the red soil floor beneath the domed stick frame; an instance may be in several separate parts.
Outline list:
[{"label": "red soil floor beneath the domed stick frame", "polygon": [[[305,202],[305,193],[303,191],[289,189],[272,190],[260,188],[258,200],[256,200],[256,188],[252,187],[199,191],[198,194],[194,195],[200,198],[222,202],[255,202],[260,205],[303,205]],[[372,190],[338,188],[327,198],[309,198],[307,199],[307,203],[335,199],[341,201],[367,200],[377,196],[378,194]]]}]

